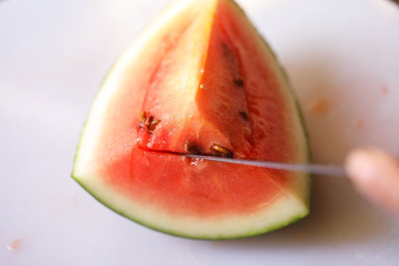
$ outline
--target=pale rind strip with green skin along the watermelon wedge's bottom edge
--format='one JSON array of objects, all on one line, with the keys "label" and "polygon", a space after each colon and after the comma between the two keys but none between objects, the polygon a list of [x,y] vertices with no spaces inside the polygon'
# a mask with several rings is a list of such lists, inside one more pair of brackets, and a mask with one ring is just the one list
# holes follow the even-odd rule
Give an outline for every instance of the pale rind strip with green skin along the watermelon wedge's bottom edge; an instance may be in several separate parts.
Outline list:
[{"label": "pale rind strip with green skin along the watermelon wedge's bottom edge", "polygon": [[[99,181],[97,177],[95,174],[90,177],[86,176],[84,179],[73,176],[95,199],[121,216],[153,230],[184,238],[203,240],[246,238],[280,229],[301,220],[309,214],[306,198],[300,199],[294,194],[287,194],[265,206],[263,211],[251,215],[229,215],[227,218],[215,217],[214,219],[205,220],[190,217],[179,217],[177,219],[175,216],[170,216],[163,212],[163,210],[133,203],[130,199],[121,196],[117,191],[110,189],[102,181]],[[295,178],[310,180],[307,174]],[[90,182],[90,180],[93,180],[93,182]],[[305,190],[304,194],[306,194],[306,190],[309,187],[305,185],[306,183],[308,182],[300,182],[302,189]],[[101,191],[101,196],[95,193],[98,191]],[[140,214],[141,218],[135,217],[134,214]],[[265,223],[265,221],[270,222]]]}]

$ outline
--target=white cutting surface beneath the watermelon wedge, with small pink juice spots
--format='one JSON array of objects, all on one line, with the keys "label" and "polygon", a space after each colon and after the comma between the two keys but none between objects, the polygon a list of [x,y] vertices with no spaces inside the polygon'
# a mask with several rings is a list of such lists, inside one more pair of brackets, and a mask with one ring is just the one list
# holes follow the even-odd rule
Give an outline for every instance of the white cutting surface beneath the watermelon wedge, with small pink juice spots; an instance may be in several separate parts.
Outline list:
[{"label": "white cutting surface beneath the watermelon wedge, with small pink juice spots", "polygon": [[[102,77],[166,5],[156,2],[0,0],[0,265],[399,265],[398,217],[369,206],[346,180],[316,177],[312,213],[295,225],[207,242],[130,222],[69,177]],[[240,2],[291,76],[316,162],[340,162],[368,144],[399,154],[398,6]],[[319,98],[329,108],[312,113]],[[16,238],[20,247],[8,251]]]}]

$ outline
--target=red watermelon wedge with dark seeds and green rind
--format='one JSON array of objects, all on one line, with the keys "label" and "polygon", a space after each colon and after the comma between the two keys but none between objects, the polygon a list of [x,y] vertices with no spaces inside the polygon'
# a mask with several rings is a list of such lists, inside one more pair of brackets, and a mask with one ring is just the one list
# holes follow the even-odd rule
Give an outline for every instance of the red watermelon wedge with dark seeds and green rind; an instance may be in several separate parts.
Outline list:
[{"label": "red watermelon wedge with dark seeds and green rind", "polygon": [[307,174],[170,152],[309,160],[286,76],[232,0],[178,0],[143,31],[94,100],[72,176],[115,212],[188,238],[258,235],[309,213]]}]

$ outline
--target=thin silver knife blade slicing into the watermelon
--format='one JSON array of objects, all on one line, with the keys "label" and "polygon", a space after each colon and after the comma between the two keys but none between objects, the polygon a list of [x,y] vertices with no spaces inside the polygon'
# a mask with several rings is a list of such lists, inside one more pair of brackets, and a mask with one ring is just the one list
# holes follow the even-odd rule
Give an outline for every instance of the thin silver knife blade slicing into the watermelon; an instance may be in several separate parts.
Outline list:
[{"label": "thin silver knife blade slicing into the watermelon", "polygon": [[216,157],[210,155],[197,155],[190,153],[171,152],[179,156],[185,156],[189,158],[197,158],[209,161],[240,164],[248,166],[256,166],[263,168],[271,168],[276,170],[285,170],[292,172],[301,172],[317,175],[325,175],[332,177],[346,177],[345,168],[337,165],[321,165],[321,164],[296,164],[296,163],[283,163],[283,162],[272,162],[272,161],[258,161],[258,160],[247,160],[247,159],[233,159],[226,157]]}]

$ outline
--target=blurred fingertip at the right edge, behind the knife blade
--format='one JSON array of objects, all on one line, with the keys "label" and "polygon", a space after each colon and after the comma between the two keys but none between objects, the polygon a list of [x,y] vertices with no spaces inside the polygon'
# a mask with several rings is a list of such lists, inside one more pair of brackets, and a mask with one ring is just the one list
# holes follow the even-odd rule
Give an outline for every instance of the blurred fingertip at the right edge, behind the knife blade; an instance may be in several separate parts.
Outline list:
[{"label": "blurred fingertip at the right edge, behind the knife blade", "polygon": [[383,209],[399,214],[398,159],[377,148],[352,151],[346,170],[356,189]]}]

